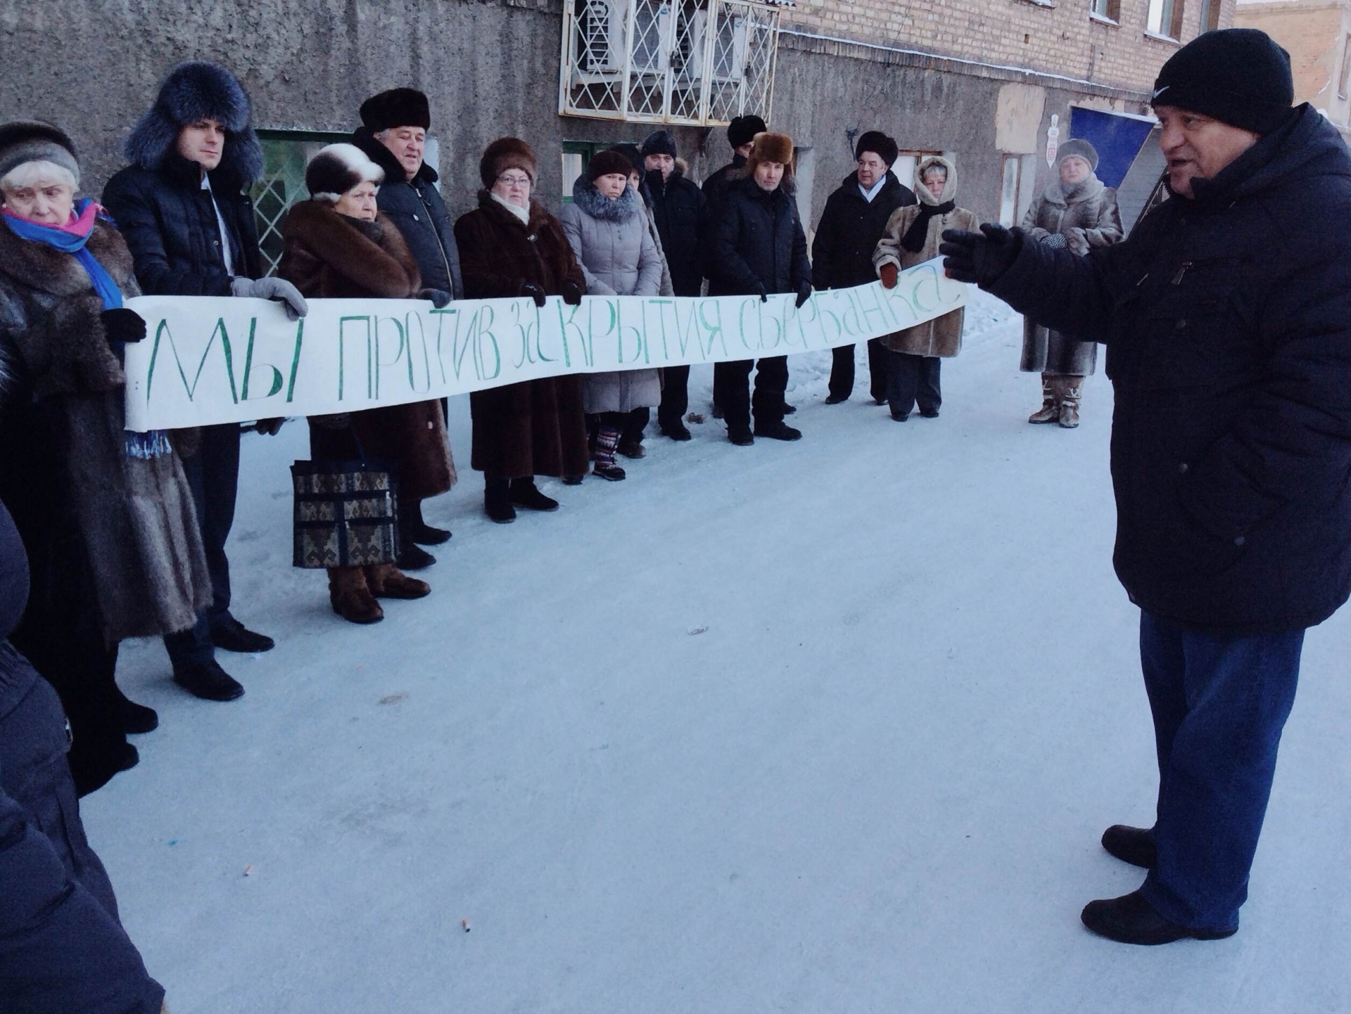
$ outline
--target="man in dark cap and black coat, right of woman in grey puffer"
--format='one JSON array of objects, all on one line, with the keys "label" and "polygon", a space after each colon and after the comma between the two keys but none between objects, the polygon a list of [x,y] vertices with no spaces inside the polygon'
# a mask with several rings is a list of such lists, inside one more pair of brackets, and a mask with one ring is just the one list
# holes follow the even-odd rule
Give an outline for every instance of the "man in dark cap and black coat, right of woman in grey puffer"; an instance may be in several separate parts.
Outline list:
[{"label": "man in dark cap and black coat, right of woman in grey puffer", "polygon": [[[677,296],[698,296],[704,288],[700,261],[701,234],[705,224],[704,193],[685,176],[676,138],[670,131],[650,134],[639,153],[647,173],[653,219],[662,238],[671,286]],[[689,367],[667,366],[662,370],[662,404],[657,424],[671,440],[689,440],[685,410],[689,408]]]}]

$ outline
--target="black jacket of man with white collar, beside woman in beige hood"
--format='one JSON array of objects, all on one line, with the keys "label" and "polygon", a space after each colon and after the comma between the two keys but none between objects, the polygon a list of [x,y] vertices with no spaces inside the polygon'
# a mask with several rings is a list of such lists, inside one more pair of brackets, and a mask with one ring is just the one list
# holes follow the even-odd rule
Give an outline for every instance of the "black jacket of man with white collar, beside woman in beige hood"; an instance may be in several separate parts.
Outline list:
[{"label": "black jacket of man with white collar, beside woman in beige hood", "polygon": [[825,198],[825,211],[812,240],[812,285],[817,289],[848,289],[877,281],[873,252],[886,234],[892,212],[915,204],[915,193],[892,173],[869,203],[850,173]]}]

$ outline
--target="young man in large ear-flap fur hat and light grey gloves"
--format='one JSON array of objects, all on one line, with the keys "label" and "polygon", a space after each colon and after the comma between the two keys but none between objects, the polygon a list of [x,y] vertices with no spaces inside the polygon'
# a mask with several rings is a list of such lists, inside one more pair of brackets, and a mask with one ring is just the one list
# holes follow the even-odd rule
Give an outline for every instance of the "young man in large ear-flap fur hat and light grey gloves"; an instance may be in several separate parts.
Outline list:
[{"label": "young man in large ear-flap fur hat and light grey gloves", "polygon": [[[262,176],[262,147],[249,124],[249,97],[215,63],[182,63],[159,88],[154,107],[127,139],[130,166],[108,181],[103,204],[118,223],[146,296],[240,296],[282,300],[299,316],[295,286],[262,277],[258,228],[245,189]],[[281,420],[265,420],[276,432]],[[272,637],[245,628],[230,612],[226,540],[239,487],[239,425],[180,433],[207,550],[213,601],[192,631],[165,637],[174,681],[211,701],[243,694],[215,649],[259,652]]]}]

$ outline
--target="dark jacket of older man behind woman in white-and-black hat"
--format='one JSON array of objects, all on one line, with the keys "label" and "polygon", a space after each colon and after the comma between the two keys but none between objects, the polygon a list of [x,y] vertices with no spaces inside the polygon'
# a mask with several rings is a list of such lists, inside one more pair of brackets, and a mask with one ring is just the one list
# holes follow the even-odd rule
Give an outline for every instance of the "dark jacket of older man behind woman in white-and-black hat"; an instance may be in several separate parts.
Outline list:
[{"label": "dark jacket of older man behind woman in white-and-black hat", "polygon": [[446,203],[436,188],[436,170],[423,162],[411,181],[394,153],[381,144],[366,127],[358,127],[351,143],[359,147],[377,166],[385,170],[376,204],[380,213],[394,223],[408,250],[417,262],[423,285],[449,292],[451,298],[465,297],[465,282],[459,277],[459,247],[455,246],[455,223],[446,212]]}]

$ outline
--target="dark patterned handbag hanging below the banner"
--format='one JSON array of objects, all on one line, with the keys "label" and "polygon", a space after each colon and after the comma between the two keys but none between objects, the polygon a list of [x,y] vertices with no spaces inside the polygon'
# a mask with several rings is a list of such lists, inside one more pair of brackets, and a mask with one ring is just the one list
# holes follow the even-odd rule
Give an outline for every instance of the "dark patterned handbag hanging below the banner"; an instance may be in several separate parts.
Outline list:
[{"label": "dark patterned handbag hanging below the banner", "polygon": [[[358,446],[358,454],[361,448]],[[296,567],[370,567],[399,556],[399,471],[380,460],[296,462]]]}]

